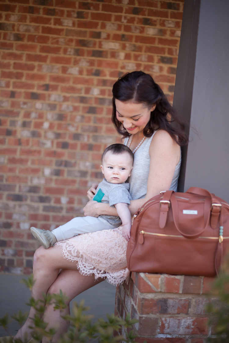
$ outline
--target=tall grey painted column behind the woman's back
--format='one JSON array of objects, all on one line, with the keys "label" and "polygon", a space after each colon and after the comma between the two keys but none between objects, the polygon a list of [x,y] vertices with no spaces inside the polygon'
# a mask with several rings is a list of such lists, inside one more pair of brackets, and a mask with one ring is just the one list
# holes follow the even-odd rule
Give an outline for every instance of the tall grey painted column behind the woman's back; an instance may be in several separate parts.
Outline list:
[{"label": "tall grey painted column behind the woman's back", "polygon": [[228,0],[185,0],[173,105],[190,139],[179,191],[202,187],[229,202]]}]

